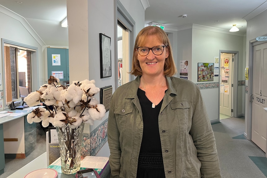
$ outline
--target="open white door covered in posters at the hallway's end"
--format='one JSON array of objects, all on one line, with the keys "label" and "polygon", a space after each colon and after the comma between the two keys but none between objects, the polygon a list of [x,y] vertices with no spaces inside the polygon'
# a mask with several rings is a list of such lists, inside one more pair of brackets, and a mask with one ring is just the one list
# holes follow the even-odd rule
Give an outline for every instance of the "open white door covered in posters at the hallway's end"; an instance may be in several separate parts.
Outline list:
[{"label": "open white door covered in posters at the hallway's end", "polygon": [[233,54],[221,53],[220,114],[232,117]]}]

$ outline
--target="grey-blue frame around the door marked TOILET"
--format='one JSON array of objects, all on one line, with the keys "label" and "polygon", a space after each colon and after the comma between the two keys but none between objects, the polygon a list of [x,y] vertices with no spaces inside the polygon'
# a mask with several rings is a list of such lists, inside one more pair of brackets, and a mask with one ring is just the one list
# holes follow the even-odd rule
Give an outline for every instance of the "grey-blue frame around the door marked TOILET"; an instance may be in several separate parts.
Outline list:
[{"label": "grey-blue frame around the door marked TOILET", "polygon": [[[261,35],[261,36],[267,36],[267,34]],[[252,93],[252,77],[253,77],[253,46],[260,45],[263,43],[267,43],[267,41],[257,41],[256,38],[249,40],[249,56],[248,56],[248,83],[247,83],[247,133],[244,133],[244,137],[247,138],[247,140],[251,140],[252,135],[252,102],[250,102],[250,95]],[[246,119],[246,117],[245,117]],[[267,134],[266,134],[267,137]],[[267,148],[267,141],[266,141],[266,148]],[[267,158],[267,151],[265,153],[265,157]]]}]

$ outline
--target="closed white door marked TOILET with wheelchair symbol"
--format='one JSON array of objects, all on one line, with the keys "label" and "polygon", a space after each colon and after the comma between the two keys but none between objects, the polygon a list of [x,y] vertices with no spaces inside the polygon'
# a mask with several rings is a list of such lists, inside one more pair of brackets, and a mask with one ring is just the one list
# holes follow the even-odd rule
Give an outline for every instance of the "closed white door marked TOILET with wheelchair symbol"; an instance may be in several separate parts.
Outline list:
[{"label": "closed white door marked TOILET with wheelchair symbol", "polygon": [[267,43],[253,46],[251,140],[266,153],[267,113]]}]

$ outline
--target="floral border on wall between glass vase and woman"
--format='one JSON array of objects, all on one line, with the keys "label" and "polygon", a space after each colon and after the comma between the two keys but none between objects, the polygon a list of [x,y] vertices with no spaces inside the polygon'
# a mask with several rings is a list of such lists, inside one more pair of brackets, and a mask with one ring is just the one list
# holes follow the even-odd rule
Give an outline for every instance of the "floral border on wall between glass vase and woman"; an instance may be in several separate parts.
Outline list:
[{"label": "floral border on wall between glass vase and woman", "polygon": [[81,155],[95,156],[107,142],[107,120],[104,120],[90,134],[82,135]]}]

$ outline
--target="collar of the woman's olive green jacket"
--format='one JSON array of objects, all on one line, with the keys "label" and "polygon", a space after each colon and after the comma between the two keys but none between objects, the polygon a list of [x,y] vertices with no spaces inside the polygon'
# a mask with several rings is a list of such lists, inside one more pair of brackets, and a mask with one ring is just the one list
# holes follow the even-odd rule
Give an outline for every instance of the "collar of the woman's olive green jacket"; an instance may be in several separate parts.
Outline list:
[{"label": "collar of the woman's olive green jacket", "polygon": [[[172,77],[166,76],[167,84],[168,84],[168,95],[177,95],[176,89],[173,87]],[[129,85],[126,98],[137,98],[137,90],[140,85],[140,76],[137,76],[135,80],[131,82]]]}]

